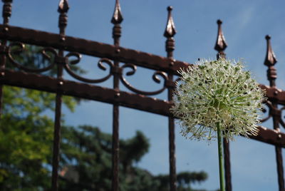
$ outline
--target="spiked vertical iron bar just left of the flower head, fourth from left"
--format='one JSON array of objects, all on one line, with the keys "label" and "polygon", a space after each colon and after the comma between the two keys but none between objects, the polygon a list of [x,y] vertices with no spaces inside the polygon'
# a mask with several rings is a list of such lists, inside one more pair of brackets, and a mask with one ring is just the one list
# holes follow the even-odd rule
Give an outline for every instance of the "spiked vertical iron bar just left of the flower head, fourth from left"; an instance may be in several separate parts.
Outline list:
[{"label": "spiked vertical iron bar just left of the flower head, fourth from left", "polygon": [[[174,21],[172,18],[172,6],[167,7],[168,18],[167,24],[165,28],[164,36],[167,38],[165,41],[165,51],[167,52],[167,58],[170,58],[172,61],[170,62],[170,66],[173,66],[173,51],[175,50],[175,40],[173,36],[175,36],[176,30]],[[168,73],[168,100],[170,103],[173,102],[173,91],[174,91],[174,83],[173,83],[173,73]],[[170,191],[175,191],[177,188],[176,185],[176,158],[175,158],[175,122],[172,116],[168,117],[168,131],[169,131],[169,157],[170,157]]]}]

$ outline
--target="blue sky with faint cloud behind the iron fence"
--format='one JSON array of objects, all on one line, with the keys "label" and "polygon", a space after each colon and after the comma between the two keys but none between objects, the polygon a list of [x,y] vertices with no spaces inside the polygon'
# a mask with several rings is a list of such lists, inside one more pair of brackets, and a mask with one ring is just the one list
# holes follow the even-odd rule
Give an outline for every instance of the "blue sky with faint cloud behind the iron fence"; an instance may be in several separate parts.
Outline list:
[{"label": "blue sky with faint cloud behind the iron fence", "polygon": [[[70,0],[66,35],[87,38],[93,41],[113,43],[110,19],[115,0]],[[243,58],[247,69],[252,71],[259,83],[266,81],[266,66],[263,65],[266,41],[271,35],[271,43],[276,53],[278,78],[277,86],[284,89],[285,77],[285,2],[281,0],[121,0],[124,21],[121,46],[165,56],[165,38],[162,36],[166,19],[166,7],[172,5],[172,15],[177,34],[175,36],[175,59],[195,63],[197,58],[215,58],[214,42],[217,36],[217,19],[224,22],[222,29],[228,43],[228,58]],[[14,0],[11,25],[23,26],[58,33],[58,0]],[[98,58],[83,56],[81,67],[89,71],[88,77],[103,76],[95,66]],[[152,79],[152,72],[138,68],[130,82],[142,90],[159,88]],[[68,75],[66,74],[66,78]],[[112,86],[110,79],[102,86]],[[122,85],[123,86],[123,85]],[[122,87],[123,90],[125,88]],[[166,94],[157,96],[166,99]],[[111,111],[108,104],[94,101],[83,102],[75,113],[66,113],[66,123],[70,125],[95,125],[105,132],[111,132]],[[271,128],[271,121],[264,123]],[[204,170],[209,179],[199,188],[214,190],[219,187],[217,143],[185,140],[176,128],[177,172]],[[167,118],[139,110],[120,108],[120,137],[130,138],[136,130],[141,130],[150,138],[150,153],[137,165],[154,174],[168,172]],[[255,140],[237,138],[231,143],[232,184],[234,190],[278,190],[274,147]]]}]

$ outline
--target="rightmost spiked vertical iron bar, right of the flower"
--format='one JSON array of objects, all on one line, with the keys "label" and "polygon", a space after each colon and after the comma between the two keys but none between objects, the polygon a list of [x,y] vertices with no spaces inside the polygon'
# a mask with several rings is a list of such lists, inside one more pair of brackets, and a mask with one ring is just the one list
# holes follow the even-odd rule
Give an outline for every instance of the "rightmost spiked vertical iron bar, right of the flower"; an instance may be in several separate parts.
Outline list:
[{"label": "rightmost spiked vertical iron bar, right of the flower", "polygon": [[[276,78],[277,73],[276,69],[274,68],[275,63],[277,62],[274,51],[271,48],[271,41],[270,36],[266,35],[266,57],[264,61],[264,65],[268,67],[267,70],[267,79],[270,83],[271,87],[276,87]],[[280,132],[279,123],[281,120],[281,110],[278,109],[278,100],[271,100],[272,108],[269,108],[269,112],[272,115],[273,119],[273,128]],[[279,191],[284,191],[284,169],[283,169],[283,160],[282,160],[282,148],[279,146],[275,146],[275,153],[276,153],[276,166],[277,166],[277,173],[278,173],[278,183],[279,183]]]}]

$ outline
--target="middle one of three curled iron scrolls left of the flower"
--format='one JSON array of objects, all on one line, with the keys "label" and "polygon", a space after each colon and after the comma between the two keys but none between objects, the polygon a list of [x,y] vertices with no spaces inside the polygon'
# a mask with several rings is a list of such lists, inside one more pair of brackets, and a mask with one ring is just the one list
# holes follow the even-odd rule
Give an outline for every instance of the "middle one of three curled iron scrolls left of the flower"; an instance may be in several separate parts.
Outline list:
[{"label": "middle one of three curled iron scrolls left of the flower", "polygon": [[[69,60],[69,58],[71,57],[76,57],[75,59],[73,60]],[[103,70],[103,71],[106,71],[106,67],[103,65],[103,63],[107,63],[108,66],[110,66],[110,72],[108,73],[107,76],[103,77],[103,78],[99,78],[99,79],[89,79],[89,78],[83,78],[82,76],[78,76],[76,73],[74,73],[72,70],[71,70],[71,67],[69,66],[69,64],[76,64],[76,63],[79,63],[79,61],[81,61],[81,54],[79,53],[74,53],[74,52],[71,52],[71,53],[68,53],[65,57],[68,62],[66,62],[64,68],[66,69],[66,71],[69,73],[69,75],[71,75],[73,78],[76,78],[78,81],[83,81],[83,82],[87,82],[87,83],[101,83],[103,81],[107,81],[108,78],[110,78],[110,76],[112,76],[112,73],[111,73],[111,69],[113,68],[113,62],[110,61],[108,58],[101,58],[99,61],[98,61],[98,67]]]}]

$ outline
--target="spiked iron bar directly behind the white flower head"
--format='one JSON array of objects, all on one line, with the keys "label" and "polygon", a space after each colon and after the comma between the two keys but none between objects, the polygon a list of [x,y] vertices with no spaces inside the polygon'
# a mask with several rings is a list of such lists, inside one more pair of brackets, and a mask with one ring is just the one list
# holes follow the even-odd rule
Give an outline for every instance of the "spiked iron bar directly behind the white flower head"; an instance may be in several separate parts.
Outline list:
[{"label": "spiked iron bar directly behind the white flower head", "polygon": [[[227,48],[226,39],[222,32],[222,21],[217,20],[218,24],[218,34],[217,41],[214,46],[214,49],[218,51],[217,59],[226,58],[226,53],[224,50]],[[226,182],[226,190],[232,191],[232,175],[231,175],[231,162],[230,162],[230,153],[229,153],[229,140],[223,138],[223,148],[224,148],[224,178]]]}]

